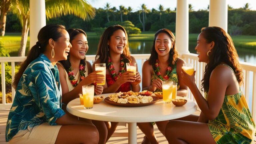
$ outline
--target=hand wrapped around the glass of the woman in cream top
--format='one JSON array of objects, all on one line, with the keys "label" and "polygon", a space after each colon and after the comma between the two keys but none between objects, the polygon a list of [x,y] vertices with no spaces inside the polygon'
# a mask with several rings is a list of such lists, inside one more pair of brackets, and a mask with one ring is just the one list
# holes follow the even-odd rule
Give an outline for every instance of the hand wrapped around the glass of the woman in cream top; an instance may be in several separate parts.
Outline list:
[{"label": "hand wrapped around the glass of the woman in cream top", "polygon": [[102,72],[101,70],[94,71],[90,73],[87,77],[85,77],[82,82],[86,84],[92,84],[92,83],[103,83],[104,82],[104,75],[102,74],[97,74],[99,72]]}]

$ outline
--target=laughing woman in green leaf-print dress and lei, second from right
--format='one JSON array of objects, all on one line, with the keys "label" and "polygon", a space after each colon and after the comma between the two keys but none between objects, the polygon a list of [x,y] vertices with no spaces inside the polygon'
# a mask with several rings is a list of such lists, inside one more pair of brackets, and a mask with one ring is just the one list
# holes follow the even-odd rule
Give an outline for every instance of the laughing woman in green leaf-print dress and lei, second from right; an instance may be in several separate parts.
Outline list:
[{"label": "laughing woman in green leaf-print dress and lei, second from right", "polygon": [[[171,80],[177,83],[177,95],[187,96],[188,87],[180,80],[183,63],[185,61],[178,58],[173,33],[167,29],[157,31],[150,58],[144,62],[142,67],[142,90],[162,92],[162,82]],[[168,122],[168,120],[156,122],[163,135]],[[150,122],[138,123],[138,126],[146,135],[142,143],[158,143]]]}]

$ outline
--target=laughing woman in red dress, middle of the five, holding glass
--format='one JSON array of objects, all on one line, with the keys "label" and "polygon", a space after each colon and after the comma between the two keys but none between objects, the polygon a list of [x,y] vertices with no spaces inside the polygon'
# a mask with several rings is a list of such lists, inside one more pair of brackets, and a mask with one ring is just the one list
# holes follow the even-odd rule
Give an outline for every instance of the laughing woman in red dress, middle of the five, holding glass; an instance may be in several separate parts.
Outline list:
[{"label": "laughing woman in red dress, middle of the five, holding glass", "polygon": [[[136,63],[130,55],[127,33],[120,25],[110,26],[102,34],[96,54],[96,61],[93,63],[93,70],[96,63],[106,63],[106,84],[103,93],[133,92],[140,91],[140,74],[138,68],[136,75],[126,71],[126,63]],[[106,123],[109,129],[108,138],[117,127],[117,122]]]}]

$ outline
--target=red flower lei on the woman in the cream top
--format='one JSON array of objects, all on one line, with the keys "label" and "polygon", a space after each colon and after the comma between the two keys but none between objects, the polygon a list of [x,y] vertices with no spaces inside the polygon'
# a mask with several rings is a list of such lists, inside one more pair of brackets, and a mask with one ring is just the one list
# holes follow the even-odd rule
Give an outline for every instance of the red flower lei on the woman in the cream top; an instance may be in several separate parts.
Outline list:
[{"label": "red flower lei on the woman in the cream top", "polygon": [[[85,78],[85,66],[83,64],[80,64],[79,66],[79,73],[80,73],[80,80],[83,80]],[[72,72],[71,66],[68,68],[68,78],[72,84],[73,87],[78,85],[78,80],[75,80],[74,73]]]}]

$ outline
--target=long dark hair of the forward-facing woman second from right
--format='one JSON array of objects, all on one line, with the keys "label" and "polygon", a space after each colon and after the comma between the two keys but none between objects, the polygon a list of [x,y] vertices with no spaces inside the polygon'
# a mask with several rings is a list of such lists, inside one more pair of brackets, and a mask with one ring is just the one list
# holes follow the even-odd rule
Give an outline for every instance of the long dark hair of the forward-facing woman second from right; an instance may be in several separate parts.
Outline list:
[{"label": "long dark hair of the forward-facing woman second from right", "polygon": [[175,36],[168,29],[161,29],[161,30],[156,32],[155,38],[154,38],[154,41],[153,41],[153,45],[152,45],[152,48],[150,50],[151,54],[150,54],[150,57],[149,57],[149,64],[154,66],[154,64],[156,62],[156,59],[158,59],[158,54],[157,54],[156,49],[155,49],[155,43],[156,43],[156,37],[160,33],[165,33],[167,36],[169,36],[171,41],[172,41],[172,43],[173,43],[173,46],[172,46],[172,48],[171,48],[171,50],[169,52],[169,58],[168,58],[168,63],[172,67],[175,64],[175,62],[177,61],[177,59],[178,59],[178,51],[176,50]]}]

